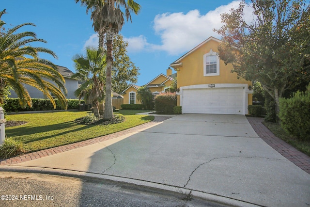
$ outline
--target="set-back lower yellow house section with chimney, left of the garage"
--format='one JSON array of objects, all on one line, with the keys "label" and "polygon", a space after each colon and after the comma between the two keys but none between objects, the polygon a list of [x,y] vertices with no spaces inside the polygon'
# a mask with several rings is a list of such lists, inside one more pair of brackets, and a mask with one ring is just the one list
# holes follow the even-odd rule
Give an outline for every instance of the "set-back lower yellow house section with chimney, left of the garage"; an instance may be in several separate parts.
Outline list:
[{"label": "set-back lower yellow house section with chimney, left of the garage", "polygon": [[[176,73],[172,74],[172,69],[168,68],[166,75],[161,73],[144,86],[148,87],[153,95],[164,93],[165,90],[171,86],[172,82],[176,82],[175,77]],[[124,104],[141,104],[141,101],[137,99],[137,91],[139,88],[140,86],[130,85],[121,93],[124,97]]]}]

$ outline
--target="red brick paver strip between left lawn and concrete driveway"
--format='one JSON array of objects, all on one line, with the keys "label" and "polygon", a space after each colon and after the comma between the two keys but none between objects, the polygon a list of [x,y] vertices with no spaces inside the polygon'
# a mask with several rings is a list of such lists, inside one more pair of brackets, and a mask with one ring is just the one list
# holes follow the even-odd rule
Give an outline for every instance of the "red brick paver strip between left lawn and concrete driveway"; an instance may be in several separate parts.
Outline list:
[{"label": "red brick paver strip between left lawn and concrete driveway", "polygon": [[29,161],[32,159],[38,159],[38,158],[62,153],[62,152],[65,152],[65,151],[68,151],[71,149],[76,149],[76,148],[91,145],[94,143],[100,143],[100,142],[107,141],[107,140],[110,140],[113,138],[117,138],[117,137],[122,136],[122,135],[126,135],[128,133],[143,130],[146,127],[151,127],[151,126],[155,125],[156,123],[162,122],[162,121],[169,119],[169,118],[171,118],[171,117],[169,117],[169,116],[155,116],[155,119],[152,122],[148,122],[148,123],[139,125],[137,127],[132,127],[132,128],[129,128],[129,129],[126,129],[123,131],[113,133],[113,134],[108,134],[105,136],[93,138],[90,140],[85,140],[85,141],[78,142],[78,143],[72,143],[72,144],[57,146],[57,147],[53,147],[53,148],[49,148],[49,149],[45,149],[45,150],[40,150],[37,152],[31,152],[31,153],[20,155],[18,157],[14,157],[14,158],[10,158],[10,159],[5,159],[5,160],[0,159],[0,165],[17,164],[17,163],[26,162],[26,161]]}]

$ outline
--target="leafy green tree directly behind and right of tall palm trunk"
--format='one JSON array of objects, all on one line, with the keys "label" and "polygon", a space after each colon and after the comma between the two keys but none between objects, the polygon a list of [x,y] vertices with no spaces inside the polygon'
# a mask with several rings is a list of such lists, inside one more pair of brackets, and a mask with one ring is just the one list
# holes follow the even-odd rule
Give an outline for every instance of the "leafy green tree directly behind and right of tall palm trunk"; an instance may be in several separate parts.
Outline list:
[{"label": "leafy green tree directly behind and right of tall palm trunk", "polygon": [[130,84],[135,84],[138,81],[139,67],[136,67],[131,62],[127,55],[126,48],[128,42],[125,42],[123,36],[118,34],[113,38],[113,65],[112,65],[112,91],[121,93]]}]

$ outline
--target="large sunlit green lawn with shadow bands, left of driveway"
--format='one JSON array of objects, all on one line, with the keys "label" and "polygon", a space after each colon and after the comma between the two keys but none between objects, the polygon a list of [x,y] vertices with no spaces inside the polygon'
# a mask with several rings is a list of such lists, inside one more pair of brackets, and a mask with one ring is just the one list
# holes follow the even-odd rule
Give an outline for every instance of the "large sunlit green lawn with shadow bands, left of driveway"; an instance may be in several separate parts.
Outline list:
[{"label": "large sunlit green lawn with shadow bands, left of driveway", "polygon": [[115,114],[123,114],[125,121],[105,126],[80,125],[74,122],[75,119],[88,115],[87,111],[6,115],[7,121],[26,121],[28,123],[16,127],[6,127],[5,132],[8,138],[14,138],[24,143],[26,151],[33,152],[111,134],[154,120],[154,116],[135,115],[139,112],[145,111],[120,110]]}]

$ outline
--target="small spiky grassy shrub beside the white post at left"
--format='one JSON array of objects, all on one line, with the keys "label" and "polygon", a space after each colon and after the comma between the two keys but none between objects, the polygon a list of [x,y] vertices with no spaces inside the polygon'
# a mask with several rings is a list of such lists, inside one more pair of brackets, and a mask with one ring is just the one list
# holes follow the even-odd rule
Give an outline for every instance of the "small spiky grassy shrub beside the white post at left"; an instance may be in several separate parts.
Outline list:
[{"label": "small spiky grassy shrub beside the white post at left", "polygon": [[5,139],[2,145],[0,145],[0,158],[3,159],[7,159],[24,152],[25,150],[23,143],[12,138]]}]

